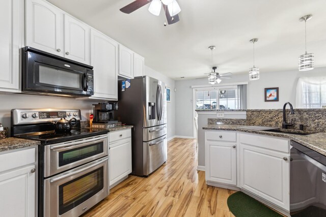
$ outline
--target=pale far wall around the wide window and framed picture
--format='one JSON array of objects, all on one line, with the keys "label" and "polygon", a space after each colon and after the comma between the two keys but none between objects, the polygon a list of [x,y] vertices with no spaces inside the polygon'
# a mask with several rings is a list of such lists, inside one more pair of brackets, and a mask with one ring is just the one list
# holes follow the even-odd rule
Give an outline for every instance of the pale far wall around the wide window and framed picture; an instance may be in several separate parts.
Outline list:
[{"label": "pale far wall around the wide window and framed picture", "polygon": [[[326,67],[316,68],[308,72],[298,70],[260,73],[260,79],[249,81],[248,73],[235,74],[231,79],[222,81],[221,85],[233,82],[249,82],[247,88],[248,109],[280,109],[285,102],[295,106],[295,88],[299,77],[326,75]],[[192,85],[207,85],[207,78],[179,80],[175,82],[175,135],[193,137],[193,90]],[[264,88],[279,87],[279,102],[264,102]]]}]

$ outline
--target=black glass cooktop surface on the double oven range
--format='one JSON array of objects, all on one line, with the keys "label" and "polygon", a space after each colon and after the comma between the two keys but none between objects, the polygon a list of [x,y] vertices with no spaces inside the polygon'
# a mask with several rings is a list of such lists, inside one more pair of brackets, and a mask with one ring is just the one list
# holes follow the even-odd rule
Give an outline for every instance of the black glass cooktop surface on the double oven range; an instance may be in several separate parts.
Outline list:
[{"label": "black glass cooktop surface on the double oven range", "polygon": [[55,131],[46,133],[46,134],[28,134],[28,135],[19,135],[16,137],[23,139],[32,139],[41,141],[42,144],[53,144],[58,142],[65,142],[75,139],[82,139],[91,136],[98,136],[108,133],[108,130],[99,130],[99,129],[74,129],[70,133],[56,133]]}]

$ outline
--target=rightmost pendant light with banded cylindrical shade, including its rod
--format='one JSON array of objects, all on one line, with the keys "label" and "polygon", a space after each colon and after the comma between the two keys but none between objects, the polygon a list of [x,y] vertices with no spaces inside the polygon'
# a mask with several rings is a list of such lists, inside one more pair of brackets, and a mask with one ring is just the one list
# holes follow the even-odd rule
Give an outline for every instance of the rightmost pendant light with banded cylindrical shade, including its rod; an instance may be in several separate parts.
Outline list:
[{"label": "rightmost pendant light with banded cylindrical shade, including its rod", "polygon": [[299,21],[305,21],[305,48],[306,52],[305,54],[299,56],[299,71],[308,71],[314,69],[314,54],[313,53],[307,53],[307,28],[306,28],[306,22],[307,20],[310,20],[312,18],[311,14],[308,14],[306,16],[303,16],[299,19]]}]

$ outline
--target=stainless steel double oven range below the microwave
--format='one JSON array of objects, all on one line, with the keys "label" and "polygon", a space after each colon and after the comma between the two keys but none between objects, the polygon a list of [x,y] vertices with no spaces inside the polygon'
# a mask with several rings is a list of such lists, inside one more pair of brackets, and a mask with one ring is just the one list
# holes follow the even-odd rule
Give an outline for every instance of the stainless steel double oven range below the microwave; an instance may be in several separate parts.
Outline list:
[{"label": "stainless steel double oven range below the microwave", "polygon": [[[76,118],[69,133],[52,121]],[[109,194],[108,131],[80,128],[78,109],[13,109],[11,136],[41,141],[38,215],[79,216]]]}]

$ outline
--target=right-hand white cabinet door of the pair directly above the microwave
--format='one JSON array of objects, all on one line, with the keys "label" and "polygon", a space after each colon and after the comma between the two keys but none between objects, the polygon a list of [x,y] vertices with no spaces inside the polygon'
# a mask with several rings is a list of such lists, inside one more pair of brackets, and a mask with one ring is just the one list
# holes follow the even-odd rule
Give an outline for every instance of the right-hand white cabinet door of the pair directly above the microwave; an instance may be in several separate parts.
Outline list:
[{"label": "right-hand white cabinet door of the pair directly above the microwave", "polygon": [[90,27],[88,25],[65,14],[64,42],[66,58],[90,64]]}]

